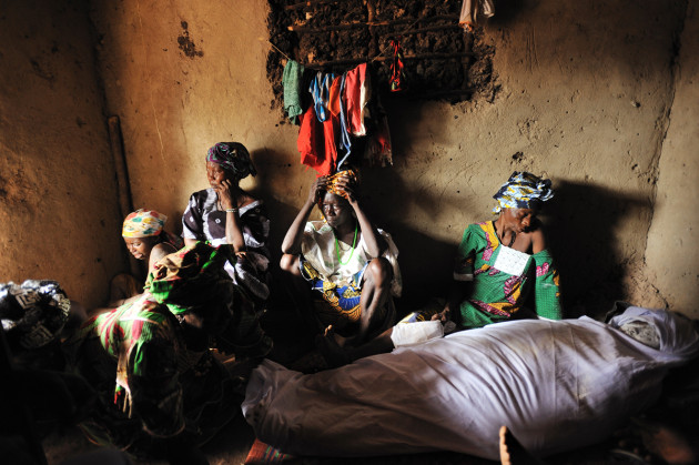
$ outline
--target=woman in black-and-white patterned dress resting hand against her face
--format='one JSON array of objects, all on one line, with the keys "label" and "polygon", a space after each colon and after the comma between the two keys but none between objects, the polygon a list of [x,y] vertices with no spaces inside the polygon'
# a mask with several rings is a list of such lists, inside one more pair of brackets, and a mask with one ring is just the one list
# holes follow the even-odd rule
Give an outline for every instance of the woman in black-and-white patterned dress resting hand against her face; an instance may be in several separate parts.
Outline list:
[{"label": "woman in black-and-white patterned dress resting hand against her face", "polygon": [[225,264],[233,282],[241,285],[262,310],[270,296],[270,220],[262,201],[240,186],[257,174],[247,149],[239,142],[219,142],[206,153],[206,178],[211,188],[194,192],[182,214],[186,245],[207,241],[230,244],[235,256]]}]

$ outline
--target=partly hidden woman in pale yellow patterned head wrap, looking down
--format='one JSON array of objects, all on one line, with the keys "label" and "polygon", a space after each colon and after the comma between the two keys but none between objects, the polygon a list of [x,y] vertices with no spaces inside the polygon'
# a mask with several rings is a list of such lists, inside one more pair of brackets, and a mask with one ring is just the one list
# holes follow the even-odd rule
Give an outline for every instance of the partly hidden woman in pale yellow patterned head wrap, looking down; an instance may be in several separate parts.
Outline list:
[{"label": "partly hidden woman in pale yellow patterned head wrap, looking down", "polygon": [[134,259],[145,263],[143,276],[121,273],[110,284],[108,307],[116,307],[143,292],[145,276],[163,256],[182,249],[182,240],[164,230],[168,216],[155,210],[139,209],[124,219],[121,236]]}]

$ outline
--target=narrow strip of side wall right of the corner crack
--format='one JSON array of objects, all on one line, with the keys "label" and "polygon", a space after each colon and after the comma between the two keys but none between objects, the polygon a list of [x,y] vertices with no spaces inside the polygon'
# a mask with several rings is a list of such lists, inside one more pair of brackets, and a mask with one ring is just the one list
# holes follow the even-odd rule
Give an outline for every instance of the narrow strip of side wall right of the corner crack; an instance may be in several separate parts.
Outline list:
[{"label": "narrow strip of side wall right of the corner crack", "polygon": [[699,315],[699,8],[690,2],[675,65],[675,99],[659,163],[646,264],[666,300]]}]

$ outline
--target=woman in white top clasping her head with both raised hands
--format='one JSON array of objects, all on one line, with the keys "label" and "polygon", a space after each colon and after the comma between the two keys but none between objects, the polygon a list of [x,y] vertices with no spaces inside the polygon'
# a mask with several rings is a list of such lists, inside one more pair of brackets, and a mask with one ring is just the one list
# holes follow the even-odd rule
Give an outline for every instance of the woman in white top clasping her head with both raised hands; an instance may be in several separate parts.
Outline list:
[{"label": "woman in white top clasping her head with both raised hands", "polygon": [[[402,291],[396,249],[376,229],[357,199],[355,171],[320,176],[282,243],[282,270],[323,332],[332,326],[347,345],[372,340],[394,324],[392,295]],[[324,221],[308,221],[317,205]],[[305,295],[304,295],[305,294]]]}]

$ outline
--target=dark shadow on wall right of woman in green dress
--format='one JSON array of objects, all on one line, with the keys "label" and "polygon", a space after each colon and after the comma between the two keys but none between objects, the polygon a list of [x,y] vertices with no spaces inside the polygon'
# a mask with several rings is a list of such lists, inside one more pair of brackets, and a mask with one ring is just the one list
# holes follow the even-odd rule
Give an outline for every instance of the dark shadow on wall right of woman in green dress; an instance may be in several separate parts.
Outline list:
[{"label": "dark shadow on wall right of woman in green dress", "polygon": [[556,196],[545,206],[548,249],[558,263],[566,317],[599,317],[625,297],[625,259],[615,243],[627,219],[651,205],[642,196],[622,195],[596,185],[558,181]]}]

